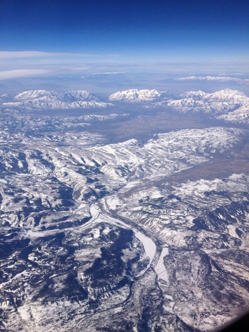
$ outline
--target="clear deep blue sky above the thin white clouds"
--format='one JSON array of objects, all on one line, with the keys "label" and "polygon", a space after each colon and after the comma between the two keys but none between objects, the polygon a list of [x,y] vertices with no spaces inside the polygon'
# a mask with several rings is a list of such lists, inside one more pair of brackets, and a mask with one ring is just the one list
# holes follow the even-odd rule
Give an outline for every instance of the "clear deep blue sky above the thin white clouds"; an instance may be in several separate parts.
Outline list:
[{"label": "clear deep blue sky above the thin white clouds", "polygon": [[0,12],[5,51],[149,60],[246,57],[249,51],[248,1],[1,0]]}]

